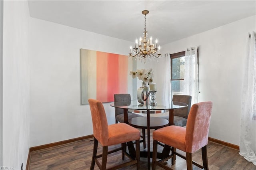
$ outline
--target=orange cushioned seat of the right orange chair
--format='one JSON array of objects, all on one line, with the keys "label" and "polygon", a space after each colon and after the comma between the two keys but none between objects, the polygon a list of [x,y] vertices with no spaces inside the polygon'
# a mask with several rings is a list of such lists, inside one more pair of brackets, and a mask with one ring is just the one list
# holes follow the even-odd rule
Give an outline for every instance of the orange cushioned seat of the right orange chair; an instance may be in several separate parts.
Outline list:
[{"label": "orange cushioned seat of the right orange chair", "polygon": [[153,132],[154,140],[184,151],[186,151],[185,134],[186,128],[179,126],[163,127]]}]

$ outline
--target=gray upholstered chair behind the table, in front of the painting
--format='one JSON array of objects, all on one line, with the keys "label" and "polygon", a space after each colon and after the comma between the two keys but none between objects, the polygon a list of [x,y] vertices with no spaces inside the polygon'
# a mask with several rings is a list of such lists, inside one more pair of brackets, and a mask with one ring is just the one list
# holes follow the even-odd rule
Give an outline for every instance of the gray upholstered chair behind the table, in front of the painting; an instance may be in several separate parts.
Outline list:
[{"label": "gray upholstered chair behind the table, in front of the painting", "polygon": [[[131,95],[130,94],[114,94],[114,102],[120,102],[120,101],[131,101]],[[124,123],[124,109],[116,108],[115,107],[115,117],[116,117],[116,123]],[[132,113],[128,111],[128,121],[129,119],[132,119],[134,117],[142,117],[141,115],[137,113]],[[143,147],[146,148],[146,141],[145,141],[145,130],[142,130],[142,140],[140,142],[143,142]]]}]

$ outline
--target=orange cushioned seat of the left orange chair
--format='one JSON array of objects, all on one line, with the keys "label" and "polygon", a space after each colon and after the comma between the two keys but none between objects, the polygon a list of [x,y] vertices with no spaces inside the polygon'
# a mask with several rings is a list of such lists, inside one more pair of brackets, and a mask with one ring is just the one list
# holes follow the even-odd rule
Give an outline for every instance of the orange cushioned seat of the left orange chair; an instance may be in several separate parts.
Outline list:
[{"label": "orange cushioned seat of the left orange chair", "polygon": [[140,130],[127,125],[126,123],[118,123],[108,126],[108,146],[125,143],[127,141],[139,140]]}]

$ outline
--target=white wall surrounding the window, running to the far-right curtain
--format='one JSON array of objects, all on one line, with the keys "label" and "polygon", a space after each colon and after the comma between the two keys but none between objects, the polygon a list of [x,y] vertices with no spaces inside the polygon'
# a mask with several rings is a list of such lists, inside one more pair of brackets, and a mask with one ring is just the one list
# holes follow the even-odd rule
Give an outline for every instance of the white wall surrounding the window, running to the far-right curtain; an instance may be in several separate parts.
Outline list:
[{"label": "white wall surrounding the window, running to the far-right curtain", "polygon": [[[161,48],[162,53],[176,53],[187,47],[200,46],[199,100],[213,101],[209,136],[236,145],[239,145],[240,136],[246,36],[255,30],[255,16],[252,16]],[[154,68],[158,75],[162,73],[161,64],[160,61]]]}]

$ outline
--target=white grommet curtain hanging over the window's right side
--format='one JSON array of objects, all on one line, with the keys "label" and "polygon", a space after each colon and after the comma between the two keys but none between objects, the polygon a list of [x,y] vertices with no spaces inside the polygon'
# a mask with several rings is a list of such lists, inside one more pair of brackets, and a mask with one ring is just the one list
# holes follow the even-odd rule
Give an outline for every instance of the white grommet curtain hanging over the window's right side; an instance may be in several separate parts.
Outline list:
[{"label": "white grommet curtain hanging over the window's right side", "polygon": [[185,53],[184,95],[192,96],[191,105],[198,103],[198,47],[190,47]]}]

